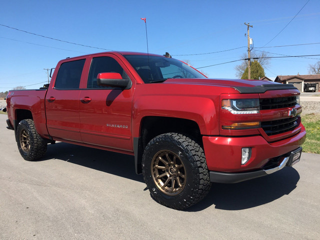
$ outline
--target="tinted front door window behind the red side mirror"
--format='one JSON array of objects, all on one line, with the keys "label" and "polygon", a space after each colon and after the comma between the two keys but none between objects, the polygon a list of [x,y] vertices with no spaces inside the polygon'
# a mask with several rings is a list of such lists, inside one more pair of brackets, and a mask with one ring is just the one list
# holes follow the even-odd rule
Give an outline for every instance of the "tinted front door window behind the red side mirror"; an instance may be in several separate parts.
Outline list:
[{"label": "tinted front door window behind the red side mirror", "polygon": [[[101,72],[117,72],[120,73],[123,79],[128,79],[128,75],[125,73],[120,64],[109,56],[93,57],[91,67],[89,71],[87,88],[106,88],[108,86],[98,86],[96,84],[96,77]],[[108,87],[110,88],[110,87]]]}]

